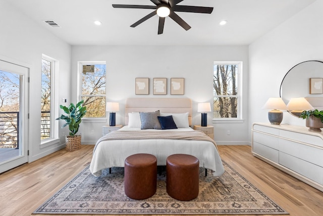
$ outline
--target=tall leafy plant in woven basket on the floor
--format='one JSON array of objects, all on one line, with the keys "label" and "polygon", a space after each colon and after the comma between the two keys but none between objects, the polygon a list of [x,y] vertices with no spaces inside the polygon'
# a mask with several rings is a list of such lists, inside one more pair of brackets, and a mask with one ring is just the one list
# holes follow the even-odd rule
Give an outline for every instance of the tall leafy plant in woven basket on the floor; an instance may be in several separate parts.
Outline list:
[{"label": "tall leafy plant in woven basket on the floor", "polygon": [[81,148],[81,135],[76,135],[79,131],[80,123],[82,117],[86,113],[86,107],[83,107],[82,104],[84,101],[78,102],[76,105],[73,103],[69,107],[61,105],[60,108],[64,110],[67,115],[61,115],[56,120],[63,119],[66,123],[62,126],[65,127],[69,125],[70,135],[66,136],[66,150],[75,151]]}]

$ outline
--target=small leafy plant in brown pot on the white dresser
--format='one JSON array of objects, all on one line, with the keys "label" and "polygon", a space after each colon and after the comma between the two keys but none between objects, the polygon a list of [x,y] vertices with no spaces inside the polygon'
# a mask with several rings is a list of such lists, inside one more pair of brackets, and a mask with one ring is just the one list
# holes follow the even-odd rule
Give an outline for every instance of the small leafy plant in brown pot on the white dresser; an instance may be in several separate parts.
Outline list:
[{"label": "small leafy plant in brown pot on the white dresser", "polygon": [[321,132],[323,127],[323,110],[304,110],[300,118],[306,118],[306,126],[309,127],[309,131]]}]

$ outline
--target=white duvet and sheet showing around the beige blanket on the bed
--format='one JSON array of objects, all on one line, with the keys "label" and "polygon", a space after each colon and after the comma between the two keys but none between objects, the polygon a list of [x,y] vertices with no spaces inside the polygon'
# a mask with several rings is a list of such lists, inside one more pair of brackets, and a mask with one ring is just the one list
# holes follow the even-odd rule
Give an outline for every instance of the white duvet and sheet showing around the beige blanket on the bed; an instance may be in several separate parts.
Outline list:
[{"label": "white duvet and sheet showing around the beige blanket on the bed", "polygon": [[[124,126],[122,131],[136,131],[140,128]],[[192,128],[168,130],[147,129],[146,131],[194,131]],[[155,155],[157,165],[166,165],[166,158],[172,154],[190,154],[199,159],[200,167],[213,170],[213,176],[221,176],[224,167],[212,142],[195,140],[110,140],[101,141],[93,152],[90,171],[94,176],[100,176],[101,170],[110,167],[124,167],[125,159],[136,153]]]}]

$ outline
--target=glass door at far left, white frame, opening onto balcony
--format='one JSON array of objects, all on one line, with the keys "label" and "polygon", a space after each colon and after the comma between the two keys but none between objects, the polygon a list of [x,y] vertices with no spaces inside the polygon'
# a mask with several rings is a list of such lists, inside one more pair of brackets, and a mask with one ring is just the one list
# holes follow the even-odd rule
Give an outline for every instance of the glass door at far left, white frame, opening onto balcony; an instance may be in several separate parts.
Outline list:
[{"label": "glass door at far left, white frame, opening onto balcony", "polygon": [[28,162],[28,71],[0,60],[0,173]]}]

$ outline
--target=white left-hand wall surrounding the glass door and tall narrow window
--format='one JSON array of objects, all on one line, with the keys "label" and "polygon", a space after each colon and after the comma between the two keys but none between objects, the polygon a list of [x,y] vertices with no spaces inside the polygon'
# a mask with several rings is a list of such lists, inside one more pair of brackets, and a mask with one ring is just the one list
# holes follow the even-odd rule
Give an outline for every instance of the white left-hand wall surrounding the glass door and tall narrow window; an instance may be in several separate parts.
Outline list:
[{"label": "white left-hand wall surrounding the glass door and tall narrow window", "polygon": [[[60,73],[56,74],[59,76],[58,98],[67,98],[70,101],[71,47],[4,1],[0,1],[0,26],[0,56],[30,67],[29,161],[33,161],[57,151],[65,143],[63,131],[60,129],[60,143],[40,146],[42,54],[59,61]],[[57,117],[58,115],[57,113]]]}]

